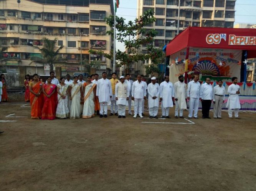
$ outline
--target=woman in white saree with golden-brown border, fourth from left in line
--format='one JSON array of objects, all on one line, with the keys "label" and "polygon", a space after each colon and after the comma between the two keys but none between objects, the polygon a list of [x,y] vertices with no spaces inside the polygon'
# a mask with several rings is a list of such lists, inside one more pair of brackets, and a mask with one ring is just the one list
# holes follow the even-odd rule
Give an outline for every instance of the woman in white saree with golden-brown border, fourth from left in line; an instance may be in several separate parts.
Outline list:
[{"label": "woman in white saree with golden-brown border, fourth from left in line", "polygon": [[72,100],[70,107],[70,118],[80,118],[81,99],[83,99],[82,83],[78,83],[78,76],[74,76],[74,82],[69,84],[69,99]]}]

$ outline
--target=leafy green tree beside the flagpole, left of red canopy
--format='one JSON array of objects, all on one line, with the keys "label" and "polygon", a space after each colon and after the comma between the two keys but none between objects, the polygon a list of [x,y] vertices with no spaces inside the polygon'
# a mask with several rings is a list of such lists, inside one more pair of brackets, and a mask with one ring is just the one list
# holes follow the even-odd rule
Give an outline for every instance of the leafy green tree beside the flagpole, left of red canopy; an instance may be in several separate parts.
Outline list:
[{"label": "leafy green tree beside the flagpole, left of red canopy", "polygon": [[[114,16],[110,15],[105,18],[106,23],[112,30],[107,31],[107,34],[114,36]],[[155,29],[146,29],[145,26],[152,24],[155,21],[154,11],[152,9],[145,11],[139,18],[134,21],[125,23],[125,19],[116,16],[116,39],[119,42],[124,43],[127,50],[122,52],[116,51],[116,60],[119,62],[118,66],[125,65],[129,72],[129,65],[133,62],[139,62],[144,60],[152,60],[156,62],[158,57],[161,57],[159,49],[154,48],[153,42],[157,32]],[[147,53],[139,53],[138,49],[141,45],[146,46]],[[102,55],[103,51],[89,50],[92,54]],[[105,54],[106,58],[113,60],[113,51]]]}]

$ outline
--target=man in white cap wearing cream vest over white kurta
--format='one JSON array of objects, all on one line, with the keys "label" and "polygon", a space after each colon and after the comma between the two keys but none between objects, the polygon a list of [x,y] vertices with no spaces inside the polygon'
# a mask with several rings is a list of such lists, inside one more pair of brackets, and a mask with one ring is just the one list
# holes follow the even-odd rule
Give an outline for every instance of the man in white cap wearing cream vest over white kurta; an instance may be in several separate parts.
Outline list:
[{"label": "man in white cap wearing cream vest over white kurta", "polygon": [[129,90],[127,83],[124,82],[124,76],[120,77],[120,82],[116,84],[115,95],[116,104],[118,105],[118,118],[126,118],[126,103],[129,100]]}]

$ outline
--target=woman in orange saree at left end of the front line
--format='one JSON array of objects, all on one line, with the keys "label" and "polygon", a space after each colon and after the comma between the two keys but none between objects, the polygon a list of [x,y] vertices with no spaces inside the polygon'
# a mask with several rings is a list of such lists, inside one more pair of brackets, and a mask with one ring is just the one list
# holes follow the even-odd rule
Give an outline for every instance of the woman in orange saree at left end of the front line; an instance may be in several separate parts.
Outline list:
[{"label": "woman in orange saree at left end of the front line", "polygon": [[34,81],[28,85],[30,91],[31,119],[40,119],[42,117],[43,95],[42,82],[39,81],[38,75],[33,75]]}]

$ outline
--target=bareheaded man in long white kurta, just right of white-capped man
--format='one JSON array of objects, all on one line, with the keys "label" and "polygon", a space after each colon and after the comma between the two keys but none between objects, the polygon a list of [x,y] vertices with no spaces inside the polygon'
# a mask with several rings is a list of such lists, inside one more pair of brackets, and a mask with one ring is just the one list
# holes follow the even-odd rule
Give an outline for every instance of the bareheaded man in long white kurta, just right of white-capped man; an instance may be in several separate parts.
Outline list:
[{"label": "bareheaded man in long white kurta, just right of white-capped man", "polygon": [[169,117],[170,107],[173,107],[175,90],[173,84],[169,81],[169,76],[165,76],[165,81],[160,84],[160,100],[162,102],[162,118]]}]

